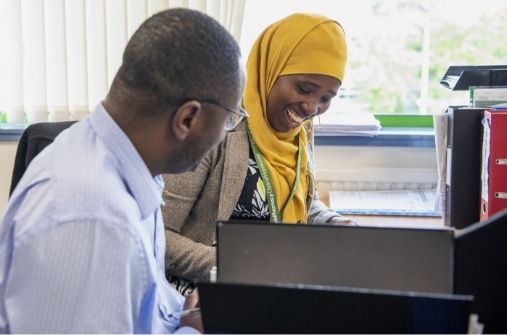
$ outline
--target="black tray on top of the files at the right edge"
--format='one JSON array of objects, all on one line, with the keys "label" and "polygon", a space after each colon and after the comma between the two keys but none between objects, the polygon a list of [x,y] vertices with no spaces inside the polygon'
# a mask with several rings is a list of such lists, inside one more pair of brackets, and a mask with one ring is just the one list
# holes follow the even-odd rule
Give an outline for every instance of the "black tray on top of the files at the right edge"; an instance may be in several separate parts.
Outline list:
[{"label": "black tray on top of the files at the right edge", "polygon": [[440,85],[451,91],[466,91],[470,86],[505,86],[507,65],[450,66]]}]

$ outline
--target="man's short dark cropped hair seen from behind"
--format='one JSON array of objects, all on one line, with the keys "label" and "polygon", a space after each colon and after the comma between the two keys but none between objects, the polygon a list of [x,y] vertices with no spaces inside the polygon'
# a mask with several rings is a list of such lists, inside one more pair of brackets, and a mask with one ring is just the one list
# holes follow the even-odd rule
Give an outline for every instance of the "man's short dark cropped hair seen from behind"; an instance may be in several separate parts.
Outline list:
[{"label": "man's short dark cropped hair seen from behind", "polygon": [[241,89],[240,57],[237,42],[215,19],[173,8],[141,24],[127,44],[115,81],[145,94],[152,107],[220,100]]}]

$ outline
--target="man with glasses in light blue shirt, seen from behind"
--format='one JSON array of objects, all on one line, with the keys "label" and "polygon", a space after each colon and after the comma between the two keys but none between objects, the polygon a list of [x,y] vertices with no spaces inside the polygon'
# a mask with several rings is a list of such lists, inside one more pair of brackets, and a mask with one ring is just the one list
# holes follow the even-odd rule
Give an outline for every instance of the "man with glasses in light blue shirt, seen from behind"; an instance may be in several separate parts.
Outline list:
[{"label": "man with glasses in light blue shirt, seen from behind", "polygon": [[9,200],[0,333],[203,331],[200,315],[170,316],[198,297],[165,279],[161,174],[195,168],[241,121],[240,64],[232,36],[197,11],[140,26],[106,99],[30,163]]}]

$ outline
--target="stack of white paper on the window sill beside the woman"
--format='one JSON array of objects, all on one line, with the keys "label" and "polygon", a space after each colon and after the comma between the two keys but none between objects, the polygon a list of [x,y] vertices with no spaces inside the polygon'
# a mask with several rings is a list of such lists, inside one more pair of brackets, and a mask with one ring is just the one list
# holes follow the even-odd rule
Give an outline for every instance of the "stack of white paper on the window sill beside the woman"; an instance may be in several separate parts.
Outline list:
[{"label": "stack of white paper on the window sill beside the woman", "polygon": [[320,117],[320,125],[314,121],[315,134],[329,136],[376,136],[380,121],[372,113],[325,113]]}]

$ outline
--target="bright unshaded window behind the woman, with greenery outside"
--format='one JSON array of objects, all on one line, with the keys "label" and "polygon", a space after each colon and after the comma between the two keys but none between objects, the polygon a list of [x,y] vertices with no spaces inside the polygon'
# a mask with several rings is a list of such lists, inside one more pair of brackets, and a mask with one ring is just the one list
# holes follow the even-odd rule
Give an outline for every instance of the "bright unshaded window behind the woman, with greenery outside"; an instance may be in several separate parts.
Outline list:
[{"label": "bright unshaded window behind the woman, with greenery outside", "polygon": [[[468,103],[468,92],[440,85],[449,66],[507,61],[503,0],[246,0],[243,53],[267,25],[294,12],[334,18],[348,37],[346,76],[331,111],[369,111],[388,115],[386,122],[395,125],[428,125],[424,115]],[[405,115],[418,117],[393,118]]]}]

